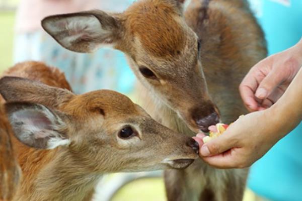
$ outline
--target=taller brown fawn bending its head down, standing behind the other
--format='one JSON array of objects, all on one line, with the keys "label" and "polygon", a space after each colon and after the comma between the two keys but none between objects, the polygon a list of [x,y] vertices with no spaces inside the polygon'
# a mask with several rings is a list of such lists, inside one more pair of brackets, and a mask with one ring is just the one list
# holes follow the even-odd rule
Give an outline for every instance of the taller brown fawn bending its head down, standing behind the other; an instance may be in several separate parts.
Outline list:
[{"label": "taller brown fawn bending its head down, standing behind the other", "polygon": [[[154,104],[155,110],[146,108],[149,114],[194,136],[246,113],[238,87],[266,48],[245,0],[192,0],[185,13],[183,7],[184,0],[140,0],[124,13],[56,15],[42,26],[72,51],[92,52],[103,45],[123,51],[142,84],[143,104]],[[247,173],[196,160],[185,170],[166,171],[167,196],[241,200]]]}]

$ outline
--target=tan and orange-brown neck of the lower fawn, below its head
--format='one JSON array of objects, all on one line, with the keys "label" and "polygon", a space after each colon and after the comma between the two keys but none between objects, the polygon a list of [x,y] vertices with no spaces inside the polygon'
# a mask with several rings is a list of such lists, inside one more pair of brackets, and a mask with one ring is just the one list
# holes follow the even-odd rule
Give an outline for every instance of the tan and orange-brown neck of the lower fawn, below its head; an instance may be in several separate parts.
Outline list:
[{"label": "tan and orange-brown neck of the lower fawn, below its head", "polygon": [[102,172],[65,147],[22,152],[28,154],[18,156],[23,179],[13,200],[86,200],[102,177]]}]

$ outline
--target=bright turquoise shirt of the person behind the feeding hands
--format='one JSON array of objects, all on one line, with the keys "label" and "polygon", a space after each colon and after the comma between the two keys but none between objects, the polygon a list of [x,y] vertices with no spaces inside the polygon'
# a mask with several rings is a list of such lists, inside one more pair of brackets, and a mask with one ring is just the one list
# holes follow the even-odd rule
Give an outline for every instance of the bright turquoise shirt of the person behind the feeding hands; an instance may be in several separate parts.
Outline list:
[{"label": "bright turquoise shirt of the person behind the feeding hands", "polygon": [[[301,0],[249,1],[265,32],[270,55],[300,40]],[[302,200],[302,124],[252,166],[248,186],[271,200]]]}]

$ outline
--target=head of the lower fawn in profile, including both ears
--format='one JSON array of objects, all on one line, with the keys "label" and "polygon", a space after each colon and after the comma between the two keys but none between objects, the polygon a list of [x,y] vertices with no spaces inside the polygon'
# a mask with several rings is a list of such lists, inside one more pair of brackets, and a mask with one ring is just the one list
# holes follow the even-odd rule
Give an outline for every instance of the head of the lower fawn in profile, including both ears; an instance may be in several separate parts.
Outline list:
[{"label": "head of the lower fawn in profile, including both ears", "polygon": [[60,146],[90,171],[184,168],[197,157],[193,139],[160,125],[115,91],[75,95],[37,81],[4,77],[0,93],[21,142],[43,149]]}]

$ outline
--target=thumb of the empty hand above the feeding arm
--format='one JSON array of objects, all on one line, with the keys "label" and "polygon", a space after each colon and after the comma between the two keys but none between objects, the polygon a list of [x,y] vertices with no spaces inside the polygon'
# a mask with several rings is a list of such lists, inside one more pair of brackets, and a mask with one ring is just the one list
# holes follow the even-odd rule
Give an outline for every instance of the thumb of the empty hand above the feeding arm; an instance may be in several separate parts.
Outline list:
[{"label": "thumb of the empty hand above the feeding arm", "polygon": [[283,82],[282,73],[272,70],[259,84],[255,96],[260,99],[267,98],[272,91]]}]

